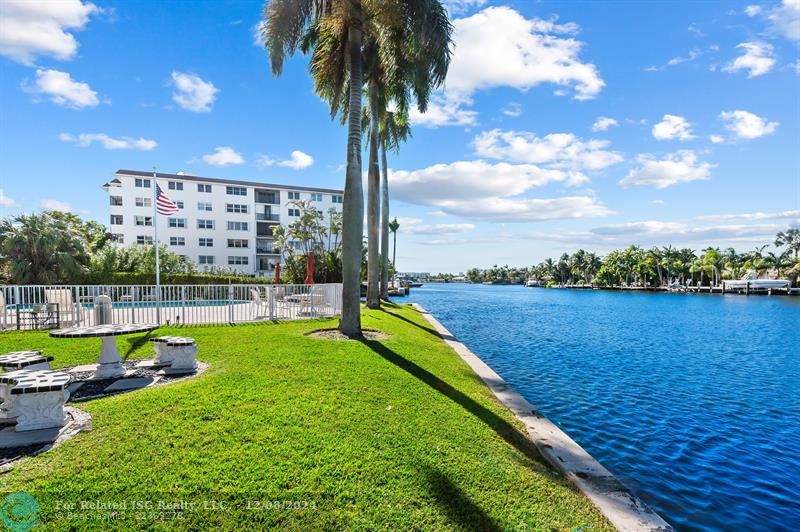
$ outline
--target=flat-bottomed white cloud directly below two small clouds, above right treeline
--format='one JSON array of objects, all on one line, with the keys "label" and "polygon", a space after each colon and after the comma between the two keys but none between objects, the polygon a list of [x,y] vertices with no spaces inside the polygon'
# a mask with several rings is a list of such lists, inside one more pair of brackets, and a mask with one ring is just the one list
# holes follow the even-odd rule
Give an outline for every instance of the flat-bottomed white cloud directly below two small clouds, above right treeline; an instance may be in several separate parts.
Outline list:
[{"label": "flat-bottomed white cloud directly below two small clouds, above right treeline", "polygon": [[668,153],[663,159],[643,154],[638,157],[639,165],[628,172],[619,184],[629,186],[653,186],[666,188],[678,183],[688,183],[709,179],[715,165],[700,162],[692,150],[679,150]]}]

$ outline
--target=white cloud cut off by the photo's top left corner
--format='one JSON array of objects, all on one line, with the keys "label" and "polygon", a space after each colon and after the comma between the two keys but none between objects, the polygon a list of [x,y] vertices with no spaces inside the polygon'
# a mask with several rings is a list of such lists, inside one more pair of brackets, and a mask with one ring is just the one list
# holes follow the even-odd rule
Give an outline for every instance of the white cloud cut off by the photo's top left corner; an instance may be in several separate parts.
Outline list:
[{"label": "white cloud cut off by the photo's top left corner", "polygon": [[72,32],[101,10],[80,0],[3,0],[0,2],[0,55],[31,65],[36,56],[68,60],[78,41]]}]

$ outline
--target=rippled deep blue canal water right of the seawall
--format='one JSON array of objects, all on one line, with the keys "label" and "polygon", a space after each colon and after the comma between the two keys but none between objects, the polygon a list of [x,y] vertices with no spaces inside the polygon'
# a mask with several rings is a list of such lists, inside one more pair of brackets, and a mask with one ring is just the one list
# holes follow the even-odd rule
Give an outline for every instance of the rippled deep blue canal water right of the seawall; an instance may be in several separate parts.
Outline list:
[{"label": "rippled deep blue canal water right of the seawall", "polygon": [[430,284],[406,301],[678,529],[800,529],[800,298]]}]

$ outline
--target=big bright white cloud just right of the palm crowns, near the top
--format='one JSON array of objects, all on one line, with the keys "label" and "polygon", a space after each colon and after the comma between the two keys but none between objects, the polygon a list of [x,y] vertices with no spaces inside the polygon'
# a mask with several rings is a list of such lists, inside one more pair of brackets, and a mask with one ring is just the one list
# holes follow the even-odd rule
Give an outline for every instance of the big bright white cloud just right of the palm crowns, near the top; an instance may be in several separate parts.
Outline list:
[{"label": "big bright white cloud just right of the palm crowns, near the top", "polygon": [[509,7],[489,7],[453,21],[455,51],[447,91],[469,96],[481,89],[527,90],[553,83],[575,90],[580,100],[597,96],[605,82],[579,58],[583,43],[559,34],[575,24],[526,19]]}]

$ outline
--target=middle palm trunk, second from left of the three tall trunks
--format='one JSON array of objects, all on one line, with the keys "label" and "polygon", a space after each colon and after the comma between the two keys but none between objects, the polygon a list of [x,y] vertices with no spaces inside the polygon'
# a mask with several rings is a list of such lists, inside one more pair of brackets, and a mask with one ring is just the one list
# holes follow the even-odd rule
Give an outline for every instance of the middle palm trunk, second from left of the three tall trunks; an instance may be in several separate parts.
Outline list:
[{"label": "middle palm trunk, second from left of the three tall trunks", "polygon": [[380,308],[378,238],[380,233],[380,168],[378,168],[378,84],[369,82],[369,172],[367,175],[367,307]]}]

